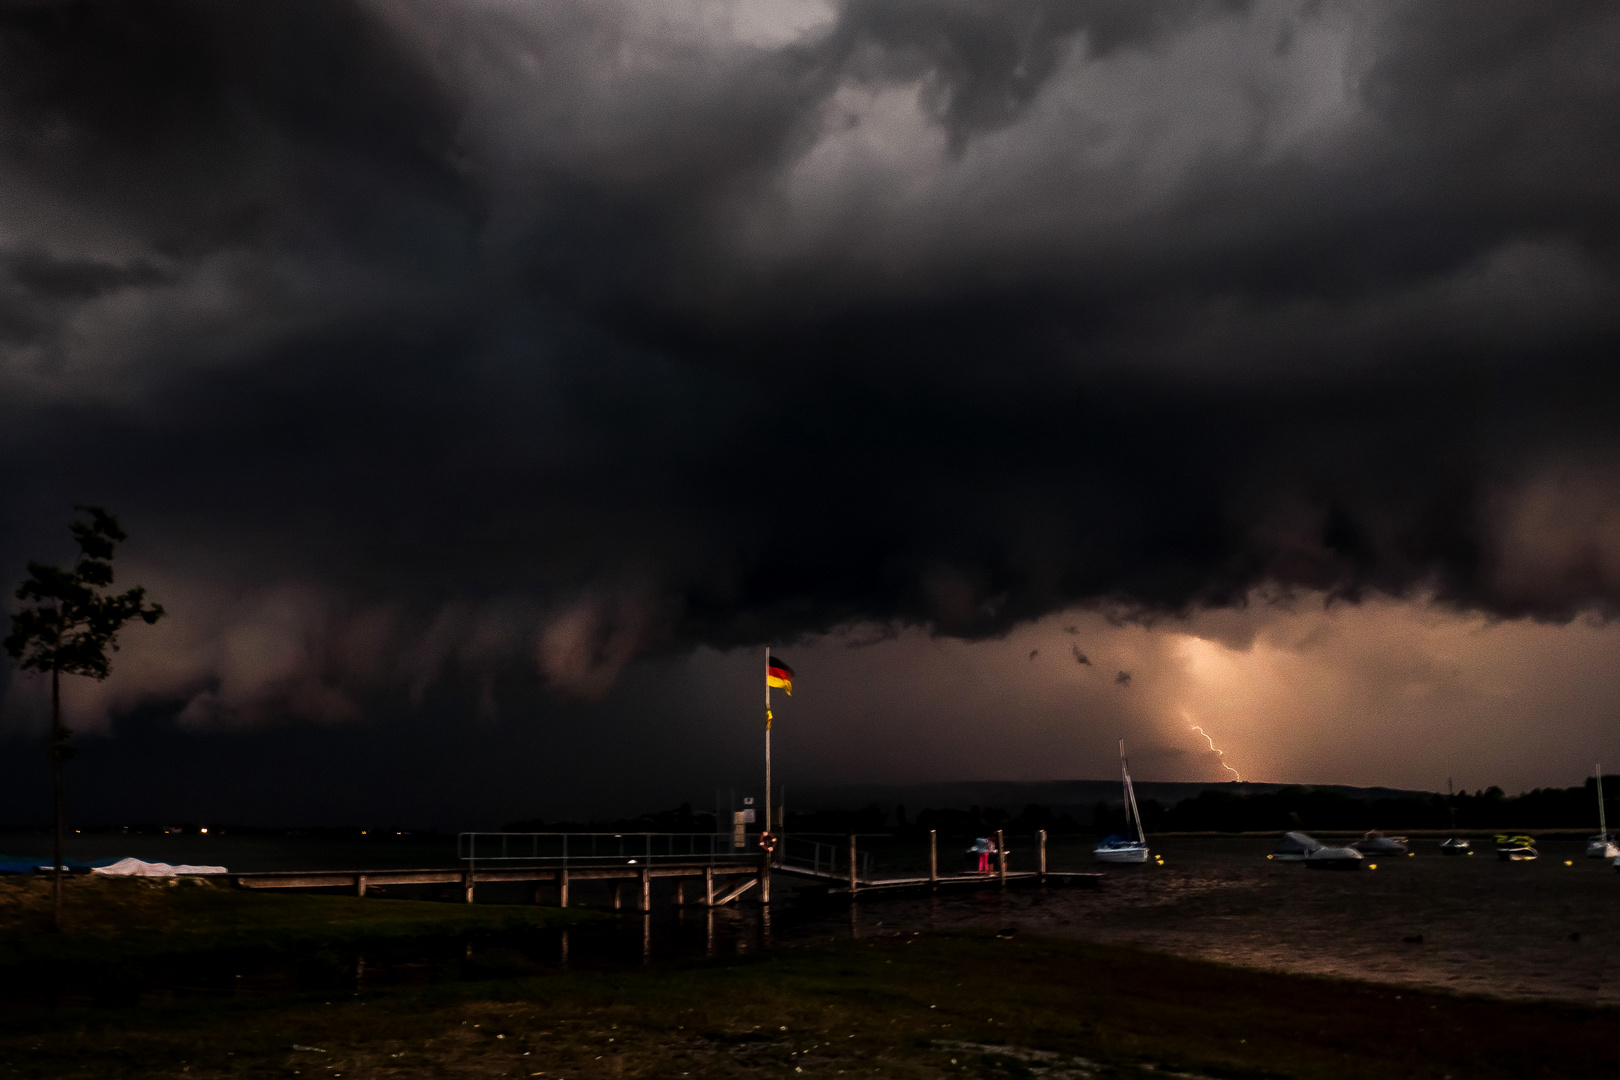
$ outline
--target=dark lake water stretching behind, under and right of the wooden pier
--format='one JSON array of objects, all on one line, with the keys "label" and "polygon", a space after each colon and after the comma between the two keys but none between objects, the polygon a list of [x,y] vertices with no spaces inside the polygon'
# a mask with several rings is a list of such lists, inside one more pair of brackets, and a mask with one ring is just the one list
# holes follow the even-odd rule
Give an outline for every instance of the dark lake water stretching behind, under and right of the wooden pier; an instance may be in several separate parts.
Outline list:
[{"label": "dark lake water stretching behind, under and right of the wooden pier", "polygon": [[[0,852],[37,855],[39,840],[37,834],[31,842],[0,837]],[[794,902],[794,891],[779,876],[778,899],[784,902],[768,916],[758,907],[676,912],[667,895],[654,894],[656,910],[648,918],[575,929],[569,938],[533,936],[515,946],[457,946],[442,957],[377,952],[339,965],[358,970],[343,973],[329,965],[319,978],[476,978],[562,963],[564,955],[575,967],[619,967],[724,959],[784,941],[849,934],[1021,928],[1277,972],[1620,1006],[1620,874],[1607,861],[1584,858],[1580,842],[1545,840],[1541,860],[1502,863],[1489,845],[1474,857],[1445,858],[1434,840],[1418,840],[1413,857],[1369,860],[1377,870],[1359,873],[1268,861],[1267,839],[1163,839],[1152,847],[1163,855],[1163,866],[1100,866],[1089,847],[1055,844],[1051,868],[1100,871],[1103,881],[1095,889],[982,889],[872,899],[850,908]],[[78,837],[70,853],[219,863],[241,871],[455,865],[450,840],[408,839]],[[1014,853],[1014,868],[1021,861]],[[914,873],[922,865],[917,850],[878,850],[878,876]],[[585,905],[606,905],[604,886],[580,882],[575,894]],[[518,892],[484,887],[481,897],[517,900]],[[509,962],[489,962],[488,949]],[[266,978],[280,984],[284,976]]]}]

